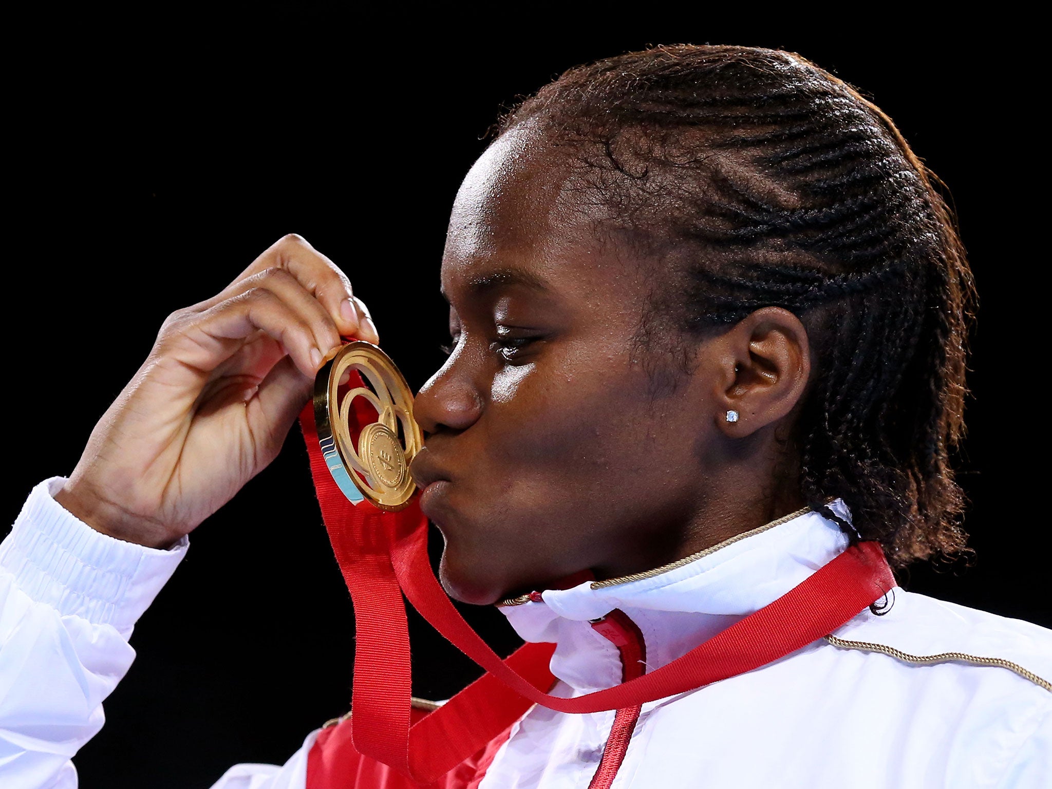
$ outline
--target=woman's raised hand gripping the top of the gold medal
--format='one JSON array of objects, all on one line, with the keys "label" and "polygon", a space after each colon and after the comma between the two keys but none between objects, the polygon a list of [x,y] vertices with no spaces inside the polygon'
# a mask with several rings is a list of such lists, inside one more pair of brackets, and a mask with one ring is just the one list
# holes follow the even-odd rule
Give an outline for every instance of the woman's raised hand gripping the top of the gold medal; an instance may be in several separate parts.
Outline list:
[{"label": "woman's raised hand gripping the top of the gold medal", "polygon": [[56,499],[121,540],[178,542],[278,454],[341,335],[379,342],[344,274],[286,236],[168,317]]}]

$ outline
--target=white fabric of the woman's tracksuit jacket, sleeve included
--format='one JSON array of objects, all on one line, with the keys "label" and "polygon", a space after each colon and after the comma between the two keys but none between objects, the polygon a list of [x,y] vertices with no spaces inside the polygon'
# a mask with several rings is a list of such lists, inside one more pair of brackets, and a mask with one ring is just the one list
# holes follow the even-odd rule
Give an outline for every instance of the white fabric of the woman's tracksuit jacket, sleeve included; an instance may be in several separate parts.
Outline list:
[{"label": "white fabric of the woman's tracksuit jacket, sleeve included", "polygon": [[[0,786],[72,788],[72,758],[102,726],[127,671],[133,625],[186,552],[101,534],[37,486],[0,545]],[[814,512],[647,578],[545,591],[504,607],[526,640],[555,642],[562,694],[621,680],[589,620],[640,628],[648,670],[781,596],[846,546]],[[953,653],[952,660],[927,656]],[[977,665],[994,663],[995,665]],[[1044,677],[1044,680],[1041,679]],[[611,789],[1052,787],[1052,631],[901,588],[780,661],[643,706]],[[1044,682],[1044,687],[1040,683]],[[481,789],[584,789],[613,712],[533,707]],[[282,767],[239,765],[214,789],[302,789],[318,732]]]}]

